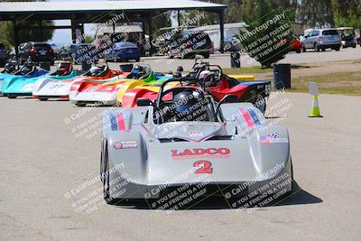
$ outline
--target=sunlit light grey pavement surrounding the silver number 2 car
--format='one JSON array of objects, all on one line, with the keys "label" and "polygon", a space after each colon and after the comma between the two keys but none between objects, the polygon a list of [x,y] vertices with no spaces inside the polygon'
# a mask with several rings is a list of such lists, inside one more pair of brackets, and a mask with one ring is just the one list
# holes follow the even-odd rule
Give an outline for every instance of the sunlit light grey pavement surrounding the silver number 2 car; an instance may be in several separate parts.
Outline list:
[{"label": "sunlit light grey pavement surrounding the silver number 2 car", "polygon": [[309,95],[273,104],[284,99],[290,110],[272,115],[290,130],[299,185],[291,199],[249,213],[214,200],[170,214],[108,205],[87,214],[66,197],[87,181],[101,188],[99,135],[75,134],[104,108],[1,97],[0,239],[359,240],[361,98],[321,95],[324,118],[306,117]]}]

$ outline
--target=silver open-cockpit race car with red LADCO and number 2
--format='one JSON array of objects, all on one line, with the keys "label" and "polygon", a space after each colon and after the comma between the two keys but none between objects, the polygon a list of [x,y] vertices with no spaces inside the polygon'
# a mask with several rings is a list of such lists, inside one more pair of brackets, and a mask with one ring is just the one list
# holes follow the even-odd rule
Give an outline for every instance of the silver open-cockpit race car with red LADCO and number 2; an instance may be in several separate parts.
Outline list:
[{"label": "silver open-cockpit race car with red LADCO and number 2", "polygon": [[152,209],[178,209],[223,196],[246,208],[292,192],[285,127],[266,125],[256,107],[235,103],[236,96],[216,103],[204,86],[192,86],[202,85],[194,79],[165,88],[175,81],[183,80],[166,80],[154,102],[139,98],[138,107],[103,113],[100,174],[107,203],[147,199]]}]

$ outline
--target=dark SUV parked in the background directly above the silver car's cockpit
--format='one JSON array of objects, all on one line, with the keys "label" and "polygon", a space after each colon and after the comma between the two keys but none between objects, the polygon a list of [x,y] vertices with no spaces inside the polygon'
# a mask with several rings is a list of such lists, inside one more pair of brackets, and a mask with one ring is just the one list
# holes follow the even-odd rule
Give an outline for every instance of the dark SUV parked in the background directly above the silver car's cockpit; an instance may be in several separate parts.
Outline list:
[{"label": "dark SUV parked in the background directly above the silver car's cockpit", "polygon": [[171,58],[180,57],[182,59],[194,58],[196,55],[203,55],[209,58],[213,51],[208,33],[201,31],[186,30],[178,32],[171,37],[169,56]]}]

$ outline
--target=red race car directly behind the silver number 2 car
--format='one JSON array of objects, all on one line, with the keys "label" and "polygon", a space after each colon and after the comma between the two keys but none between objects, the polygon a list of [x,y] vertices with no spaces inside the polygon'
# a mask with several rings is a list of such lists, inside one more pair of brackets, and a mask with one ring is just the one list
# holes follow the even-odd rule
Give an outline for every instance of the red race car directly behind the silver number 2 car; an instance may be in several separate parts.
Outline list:
[{"label": "red race car directly behind the silver number 2 car", "polygon": [[[216,101],[220,101],[227,94],[232,94],[239,102],[255,104],[263,113],[266,109],[266,99],[271,92],[271,81],[238,81],[224,74],[218,65],[204,62],[196,62],[190,74],[180,79],[187,81],[194,79],[195,83],[202,81],[208,93]],[[136,107],[138,98],[149,98],[154,101],[157,97],[158,92],[149,89],[129,89],[123,97],[122,107]],[[171,96],[169,98],[171,99]]]}]

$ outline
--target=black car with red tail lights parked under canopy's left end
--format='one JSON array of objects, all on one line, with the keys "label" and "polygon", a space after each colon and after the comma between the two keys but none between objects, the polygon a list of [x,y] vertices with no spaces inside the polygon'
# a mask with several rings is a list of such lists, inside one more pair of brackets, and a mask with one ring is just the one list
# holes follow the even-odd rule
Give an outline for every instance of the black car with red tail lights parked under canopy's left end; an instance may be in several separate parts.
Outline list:
[{"label": "black car with red tail lights parked under canopy's left end", "polygon": [[32,61],[38,64],[42,61],[51,62],[54,65],[55,55],[51,45],[46,42],[23,42],[19,45],[19,60],[23,64],[26,60],[32,58]]}]

